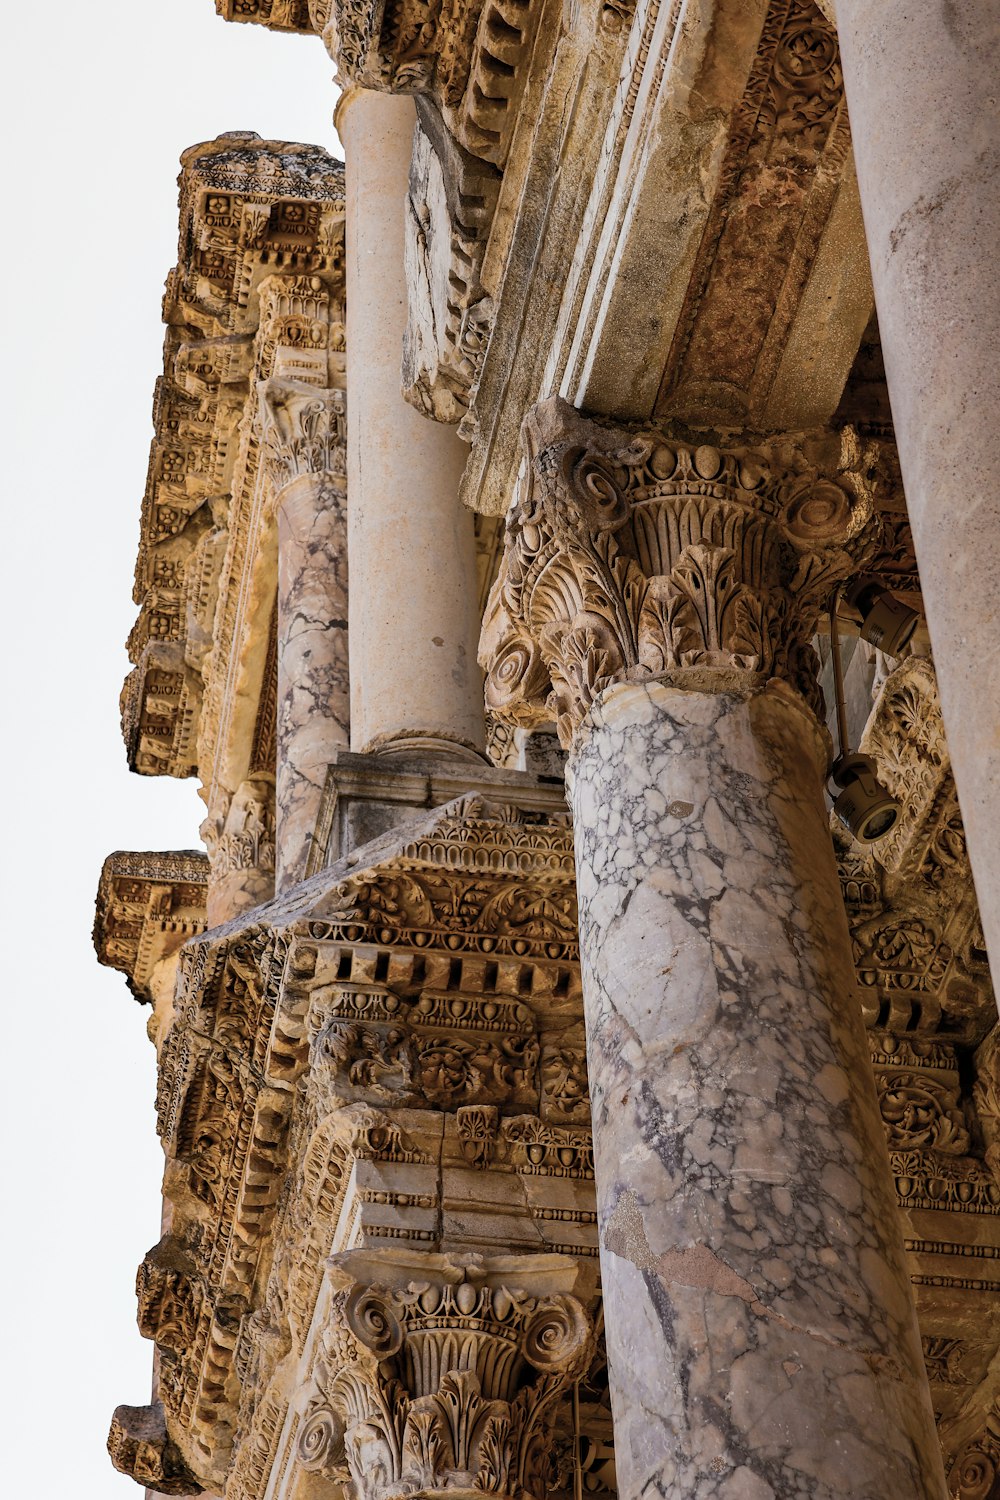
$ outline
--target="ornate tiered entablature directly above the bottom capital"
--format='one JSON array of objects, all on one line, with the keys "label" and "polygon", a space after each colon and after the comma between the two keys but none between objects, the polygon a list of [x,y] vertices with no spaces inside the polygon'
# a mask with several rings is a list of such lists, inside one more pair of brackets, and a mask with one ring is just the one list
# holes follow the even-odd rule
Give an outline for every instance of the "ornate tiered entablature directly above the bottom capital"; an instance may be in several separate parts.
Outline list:
[{"label": "ornate tiered entablature directly above the bottom capital", "polygon": [[[255,918],[181,956],[157,1082],[171,1227],[136,1282],[171,1443],[247,1500],[331,1248],[597,1252],[565,819],[466,796]],[[475,1413],[501,1400],[486,1378]]]}]

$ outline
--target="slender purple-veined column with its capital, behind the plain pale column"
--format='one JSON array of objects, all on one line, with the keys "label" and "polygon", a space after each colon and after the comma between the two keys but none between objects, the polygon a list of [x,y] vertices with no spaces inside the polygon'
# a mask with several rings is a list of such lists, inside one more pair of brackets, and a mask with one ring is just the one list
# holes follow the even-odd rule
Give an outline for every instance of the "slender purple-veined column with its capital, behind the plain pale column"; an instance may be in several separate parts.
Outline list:
[{"label": "slender purple-veined column with its capital, behind the plain pale column", "polygon": [[345,393],[261,387],[277,519],[276,890],[306,873],[327,766],[349,744]]}]

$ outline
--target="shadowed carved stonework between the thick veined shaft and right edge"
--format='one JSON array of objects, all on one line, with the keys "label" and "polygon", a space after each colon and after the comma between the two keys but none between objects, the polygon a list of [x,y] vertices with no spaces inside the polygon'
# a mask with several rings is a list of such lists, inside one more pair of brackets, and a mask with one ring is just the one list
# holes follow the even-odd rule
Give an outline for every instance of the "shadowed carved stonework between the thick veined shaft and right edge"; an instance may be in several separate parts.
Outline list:
[{"label": "shadowed carved stonework between the thick veined shaft and right edge", "polygon": [[835,826],[841,885],[949,1492],[988,1496],[1000,1352],[996,1002],[930,662],[889,670],[861,744],[901,816],[867,850]]}]

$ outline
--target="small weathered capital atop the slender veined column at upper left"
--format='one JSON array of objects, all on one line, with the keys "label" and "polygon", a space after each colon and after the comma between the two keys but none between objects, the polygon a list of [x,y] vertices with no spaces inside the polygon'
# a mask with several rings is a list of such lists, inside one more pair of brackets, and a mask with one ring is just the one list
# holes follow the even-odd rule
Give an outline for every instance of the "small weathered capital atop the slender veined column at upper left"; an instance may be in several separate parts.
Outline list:
[{"label": "small weathered capital atop the slender veined column at upper left", "polygon": [[346,392],[304,381],[261,381],[262,458],[274,492],[303,474],[346,477]]}]

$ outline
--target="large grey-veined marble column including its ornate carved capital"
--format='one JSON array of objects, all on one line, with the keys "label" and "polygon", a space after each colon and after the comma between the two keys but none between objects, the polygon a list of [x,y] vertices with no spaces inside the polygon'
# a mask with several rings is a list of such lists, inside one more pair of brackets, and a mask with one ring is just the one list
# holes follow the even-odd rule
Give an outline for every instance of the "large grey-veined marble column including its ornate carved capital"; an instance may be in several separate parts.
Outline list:
[{"label": "large grey-veined marble column including its ornate carved capital", "polygon": [[807,704],[867,459],[528,432],[487,702],[570,746],[622,1500],[942,1500]]}]

